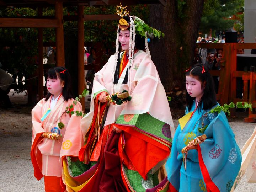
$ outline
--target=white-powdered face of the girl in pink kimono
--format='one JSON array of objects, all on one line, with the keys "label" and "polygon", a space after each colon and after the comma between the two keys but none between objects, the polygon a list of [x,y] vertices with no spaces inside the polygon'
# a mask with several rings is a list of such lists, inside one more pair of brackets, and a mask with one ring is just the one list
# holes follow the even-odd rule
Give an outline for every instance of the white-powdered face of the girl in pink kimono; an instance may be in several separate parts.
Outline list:
[{"label": "white-powdered face of the girl in pink kimono", "polygon": [[57,75],[57,79],[47,78],[46,87],[48,91],[54,95],[54,98],[62,93],[64,81],[61,81]]}]

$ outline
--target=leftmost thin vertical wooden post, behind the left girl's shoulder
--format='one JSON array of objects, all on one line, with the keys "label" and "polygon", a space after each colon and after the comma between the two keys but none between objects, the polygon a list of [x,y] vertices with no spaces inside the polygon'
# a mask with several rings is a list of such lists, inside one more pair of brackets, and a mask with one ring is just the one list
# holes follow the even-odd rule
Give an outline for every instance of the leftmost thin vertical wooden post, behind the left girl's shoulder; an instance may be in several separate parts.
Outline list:
[{"label": "leftmost thin vertical wooden post, behind the left girl's shoulder", "polygon": [[[38,7],[38,16],[43,15],[43,9]],[[44,69],[43,69],[43,28],[38,28],[38,97],[41,100],[44,97],[43,90],[43,78],[44,78]]]}]

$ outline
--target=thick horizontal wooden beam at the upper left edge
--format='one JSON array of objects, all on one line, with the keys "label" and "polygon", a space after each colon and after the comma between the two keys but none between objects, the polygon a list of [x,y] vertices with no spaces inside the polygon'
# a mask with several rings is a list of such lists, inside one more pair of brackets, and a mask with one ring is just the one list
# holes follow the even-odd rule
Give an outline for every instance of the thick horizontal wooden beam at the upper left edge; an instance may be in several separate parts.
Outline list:
[{"label": "thick horizontal wooden beam at the upper left edge", "polygon": [[20,28],[57,28],[60,23],[57,19],[41,18],[0,18],[0,27]]}]

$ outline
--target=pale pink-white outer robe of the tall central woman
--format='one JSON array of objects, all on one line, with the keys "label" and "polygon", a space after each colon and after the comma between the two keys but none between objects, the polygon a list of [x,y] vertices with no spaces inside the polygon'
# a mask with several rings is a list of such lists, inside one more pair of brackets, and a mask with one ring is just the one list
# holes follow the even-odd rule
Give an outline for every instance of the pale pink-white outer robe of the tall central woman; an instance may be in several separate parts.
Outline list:
[{"label": "pale pink-white outer robe of the tall central woman", "polygon": [[[85,135],[87,129],[90,127],[92,117],[94,114],[94,99],[97,94],[106,91],[111,94],[112,87],[112,73],[114,69],[114,55],[112,55],[107,64],[95,73],[94,86],[92,88],[91,110],[82,118],[82,132]],[[122,92],[129,90],[128,84],[122,84],[128,65],[120,75],[118,84],[114,84],[114,92]],[[132,100],[122,105],[109,105],[106,125],[115,123],[120,115],[124,114],[143,114],[149,113],[152,117],[159,119],[170,125],[171,135],[174,136],[175,129],[172,122],[172,116],[167,101],[166,93],[161,84],[156,67],[149,55],[142,50],[138,50],[134,54],[133,66],[131,69],[131,93]],[[163,99],[164,98],[164,99]]]}]

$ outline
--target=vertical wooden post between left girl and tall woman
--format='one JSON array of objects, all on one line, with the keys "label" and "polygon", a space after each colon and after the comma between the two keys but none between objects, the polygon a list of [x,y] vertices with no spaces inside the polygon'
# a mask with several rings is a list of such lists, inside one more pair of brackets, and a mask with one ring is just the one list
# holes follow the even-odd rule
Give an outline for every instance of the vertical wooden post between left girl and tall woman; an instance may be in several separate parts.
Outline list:
[{"label": "vertical wooden post between left girl and tall woman", "polygon": [[[84,73],[84,6],[78,6],[78,94],[81,95],[85,89]],[[85,110],[85,100],[80,100],[83,111]]]}]

